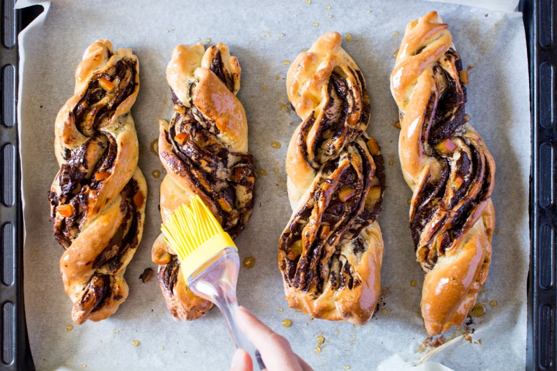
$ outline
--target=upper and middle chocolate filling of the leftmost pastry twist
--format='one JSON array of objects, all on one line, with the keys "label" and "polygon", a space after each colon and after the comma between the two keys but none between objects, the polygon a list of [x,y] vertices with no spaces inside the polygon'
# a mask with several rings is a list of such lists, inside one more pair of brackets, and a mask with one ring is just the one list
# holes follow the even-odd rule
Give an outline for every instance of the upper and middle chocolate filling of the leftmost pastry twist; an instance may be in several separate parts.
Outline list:
[{"label": "upper and middle chocolate filling of the leftmost pastry twist", "polygon": [[[59,193],[49,191],[54,237],[68,248],[86,220],[88,199],[104,186],[104,179],[113,169],[118,145],[116,139],[100,132],[111,116],[135,89],[136,62],[121,60],[88,84],[84,96],[70,113],[70,120],[88,139],[76,150],[65,148],[65,164],[58,172]],[[110,81],[110,91],[100,86],[100,79]],[[63,212],[58,207],[63,206]]]}]

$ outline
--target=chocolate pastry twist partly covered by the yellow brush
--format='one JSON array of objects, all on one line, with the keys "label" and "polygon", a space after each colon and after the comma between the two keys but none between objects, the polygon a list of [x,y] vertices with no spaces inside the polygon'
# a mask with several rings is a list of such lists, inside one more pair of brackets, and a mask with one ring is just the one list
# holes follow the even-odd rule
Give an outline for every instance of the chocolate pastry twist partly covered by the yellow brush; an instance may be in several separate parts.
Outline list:
[{"label": "chocolate pastry twist partly covered by the yellow brush", "polygon": [[[240,64],[222,43],[205,51],[178,45],[166,68],[174,116],[159,120],[159,157],[167,175],[161,184],[163,222],[198,194],[231,237],[240,235],[253,210],[255,173],[248,150],[240,90]],[[212,303],[197,297],[180,273],[180,262],[159,235],[152,247],[166,307],[178,319],[193,320]]]}]

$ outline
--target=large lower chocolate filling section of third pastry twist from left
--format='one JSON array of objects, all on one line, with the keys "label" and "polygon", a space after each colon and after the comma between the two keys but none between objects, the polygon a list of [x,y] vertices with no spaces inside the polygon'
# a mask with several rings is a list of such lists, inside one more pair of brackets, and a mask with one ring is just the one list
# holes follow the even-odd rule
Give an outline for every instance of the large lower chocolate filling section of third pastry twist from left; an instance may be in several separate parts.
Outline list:
[{"label": "large lower chocolate filling section of third pastry twist from left", "polygon": [[[360,143],[348,144],[338,159],[322,167],[306,204],[281,236],[281,271],[297,290],[320,294],[327,281],[334,290],[360,284],[340,248],[351,243],[353,253],[366,251],[359,235],[377,219],[385,189],[382,156],[371,157]],[[374,177],[379,192],[368,199]]]}]

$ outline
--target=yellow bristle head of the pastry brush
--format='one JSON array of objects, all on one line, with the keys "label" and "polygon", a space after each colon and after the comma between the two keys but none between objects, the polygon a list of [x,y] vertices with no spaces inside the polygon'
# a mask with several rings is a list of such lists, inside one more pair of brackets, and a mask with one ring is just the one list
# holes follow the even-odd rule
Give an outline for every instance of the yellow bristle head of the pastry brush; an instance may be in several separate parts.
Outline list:
[{"label": "yellow bristle head of the pastry brush", "polygon": [[198,195],[191,198],[189,206],[182,204],[176,208],[161,225],[161,230],[166,243],[178,255],[186,281],[224,248],[236,248]]}]

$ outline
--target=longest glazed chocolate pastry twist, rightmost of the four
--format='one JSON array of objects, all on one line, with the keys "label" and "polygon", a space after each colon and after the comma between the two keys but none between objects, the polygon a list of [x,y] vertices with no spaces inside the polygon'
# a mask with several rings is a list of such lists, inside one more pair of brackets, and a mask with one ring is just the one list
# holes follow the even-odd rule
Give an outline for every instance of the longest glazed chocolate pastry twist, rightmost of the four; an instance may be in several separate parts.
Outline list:
[{"label": "longest glazed chocolate pastry twist, rightmost of the four", "polygon": [[447,28],[435,12],[410,22],[391,74],[430,335],[462,324],[474,306],[487,279],[495,223],[495,164],[464,114],[466,72]]}]

